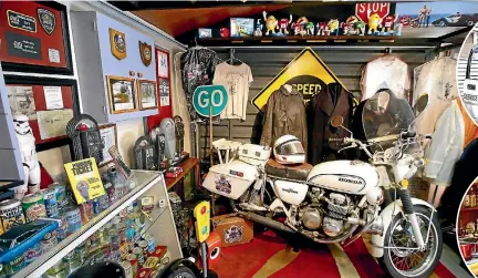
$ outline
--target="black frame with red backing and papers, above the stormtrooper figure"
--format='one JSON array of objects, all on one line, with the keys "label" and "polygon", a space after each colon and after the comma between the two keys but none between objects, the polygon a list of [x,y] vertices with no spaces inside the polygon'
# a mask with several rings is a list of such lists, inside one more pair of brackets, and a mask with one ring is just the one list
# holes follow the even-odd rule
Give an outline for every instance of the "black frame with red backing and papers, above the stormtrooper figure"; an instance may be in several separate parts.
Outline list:
[{"label": "black frame with red backing and papers, above the stormtrooper figure", "polygon": [[76,81],[4,75],[11,113],[22,113],[35,137],[37,151],[67,145],[66,124],[80,114]]}]

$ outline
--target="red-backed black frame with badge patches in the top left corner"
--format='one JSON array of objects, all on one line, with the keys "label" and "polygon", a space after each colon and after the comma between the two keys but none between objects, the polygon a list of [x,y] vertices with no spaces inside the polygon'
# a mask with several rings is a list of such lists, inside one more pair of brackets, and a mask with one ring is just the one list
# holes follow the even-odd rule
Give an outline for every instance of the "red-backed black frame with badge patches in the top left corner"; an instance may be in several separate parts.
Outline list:
[{"label": "red-backed black frame with badge patches in the top left corner", "polygon": [[2,1],[3,71],[73,74],[66,7],[55,1]]}]

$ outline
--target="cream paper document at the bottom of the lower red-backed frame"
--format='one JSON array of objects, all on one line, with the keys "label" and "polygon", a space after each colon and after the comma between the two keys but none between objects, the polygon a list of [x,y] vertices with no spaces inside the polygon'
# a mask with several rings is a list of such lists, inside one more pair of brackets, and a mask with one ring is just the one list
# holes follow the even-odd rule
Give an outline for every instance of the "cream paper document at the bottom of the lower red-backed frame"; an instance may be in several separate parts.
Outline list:
[{"label": "cream paper document at the bottom of the lower red-backed frame", "polygon": [[66,135],[66,125],[73,119],[73,110],[39,111],[38,125],[42,140]]}]

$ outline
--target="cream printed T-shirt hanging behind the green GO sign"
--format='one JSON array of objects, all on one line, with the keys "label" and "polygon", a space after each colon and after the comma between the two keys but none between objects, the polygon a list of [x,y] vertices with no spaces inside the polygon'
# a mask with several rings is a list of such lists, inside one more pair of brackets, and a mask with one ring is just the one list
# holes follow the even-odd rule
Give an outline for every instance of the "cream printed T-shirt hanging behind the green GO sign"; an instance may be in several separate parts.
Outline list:
[{"label": "cream printed T-shirt hanging behind the green GO sign", "polygon": [[246,63],[239,65],[220,63],[216,66],[212,84],[224,85],[228,92],[228,103],[220,114],[220,119],[246,120],[251,82],[252,73]]}]

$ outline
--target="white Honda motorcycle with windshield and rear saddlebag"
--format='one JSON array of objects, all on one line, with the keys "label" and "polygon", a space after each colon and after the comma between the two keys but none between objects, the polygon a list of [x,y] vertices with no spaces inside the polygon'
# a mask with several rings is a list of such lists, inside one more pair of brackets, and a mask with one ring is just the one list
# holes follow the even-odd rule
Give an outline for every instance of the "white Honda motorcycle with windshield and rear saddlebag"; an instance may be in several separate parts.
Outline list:
[{"label": "white Honda motorcycle with windshield and rear saddlebag", "polygon": [[[278,174],[270,171],[274,162],[267,162],[270,148],[245,144],[238,147],[238,159],[212,166],[202,186],[228,197],[236,213],[248,219],[316,243],[345,246],[371,234],[371,254],[388,275],[429,277],[441,255],[441,230],[435,209],[407,191],[408,179],[424,165],[425,138],[409,128],[412,107],[385,94],[364,103],[366,141],[355,140],[352,132],[333,140],[344,148],[362,150],[368,163],[333,161],[311,169],[284,167]],[[426,95],[417,101],[416,115],[427,102]],[[384,121],[384,111],[393,124]],[[333,117],[331,126],[344,128],[342,123],[342,117]],[[384,202],[385,192],[391,200]]]}]

